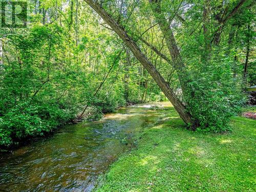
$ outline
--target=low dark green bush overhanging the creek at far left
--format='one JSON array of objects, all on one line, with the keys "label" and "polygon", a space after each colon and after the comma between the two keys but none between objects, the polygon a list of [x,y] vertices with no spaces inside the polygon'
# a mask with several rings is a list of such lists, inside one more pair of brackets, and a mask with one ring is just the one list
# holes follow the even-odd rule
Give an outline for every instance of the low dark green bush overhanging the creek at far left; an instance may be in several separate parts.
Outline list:
[{"label": "low dark green bush overhanging the creek at far left", "polygon": [[58,105],[19,103],[0,118],[0,145],[9,146],[28,136],[42,136],[72,119]]}]

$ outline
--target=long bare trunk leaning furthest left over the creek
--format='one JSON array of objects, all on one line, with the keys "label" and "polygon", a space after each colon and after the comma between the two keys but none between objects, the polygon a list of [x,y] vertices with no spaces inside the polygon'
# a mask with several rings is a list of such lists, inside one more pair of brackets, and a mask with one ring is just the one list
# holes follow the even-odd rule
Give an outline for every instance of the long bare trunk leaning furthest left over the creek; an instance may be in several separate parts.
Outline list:
[{"label": "long bare trunk leaning furthest left over the creek", "polygon": [[[160,89],[163,91],[165,96],[174,105],[174,108],[179,113],[180,117],[186,124],[194,125],[193,118],[186,111],[185,106],[175,95],[174,91],[169,88],[167,82],[160,75],[154,65],[150,60],[141,52],[140,48],[136,45],[135,41],[126,33],[126,31],[115,22],[115,20],[108,14],[97,2],[93,0],[84,0],[88,5],[90,5],[101,18],[116,32],[116,34],[125,42],[127,47],[133,52],[134,56],[140,61],[143,67],[151,74],[153,79],[156,81]],[[193,126],[194,127],[194,126]]]}]

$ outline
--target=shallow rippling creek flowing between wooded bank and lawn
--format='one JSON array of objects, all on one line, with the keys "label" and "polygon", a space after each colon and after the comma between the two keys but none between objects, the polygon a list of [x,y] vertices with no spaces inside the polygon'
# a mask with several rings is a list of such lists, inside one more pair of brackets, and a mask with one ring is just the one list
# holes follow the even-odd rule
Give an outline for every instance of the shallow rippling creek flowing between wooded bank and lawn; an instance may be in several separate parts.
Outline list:
[{"label": "shallow rippling creek flowing between wooded bank and lawn", "polygon": [[98,176],[136,145],[141,132],[164,117],[152,105],[127,106],[99,121],[68,124],[50,137],[0,154],[0,191],[91,191]]}]

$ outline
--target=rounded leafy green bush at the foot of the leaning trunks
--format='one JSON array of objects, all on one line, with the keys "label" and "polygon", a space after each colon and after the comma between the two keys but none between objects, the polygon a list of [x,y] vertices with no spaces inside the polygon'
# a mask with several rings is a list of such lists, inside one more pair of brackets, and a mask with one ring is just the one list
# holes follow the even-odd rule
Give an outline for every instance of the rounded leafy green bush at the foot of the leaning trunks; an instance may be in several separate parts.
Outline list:
[{"label": "rounded leafy green bush at the foot of the leaning trunks", "polygon": [[230,130],[231,116],[245,103],[240,84],[233,78],[228,60],[202,64],[199,72],[193,72],[191,90],[185,101],[188,111],[198,120],[198,131],[224,132]]}]

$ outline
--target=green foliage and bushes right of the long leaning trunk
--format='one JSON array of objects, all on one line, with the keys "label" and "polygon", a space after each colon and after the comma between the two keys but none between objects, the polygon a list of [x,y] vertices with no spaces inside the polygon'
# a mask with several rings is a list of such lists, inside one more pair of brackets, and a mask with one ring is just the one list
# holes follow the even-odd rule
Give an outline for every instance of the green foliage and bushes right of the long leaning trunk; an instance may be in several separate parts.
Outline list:
[{"label": "green foliage and bushes right of the long leaning trunk", "polygon": [[[161,67],[158,69],[167,77],[170,87],[177,90],[196,121],[197,129],[203,132],[230,130],[229,118],[239,112],[246,100],[243,90],[255,83],[255,52],[252,50],[255,8],[252,1],[163,0],[143,1],[138,5],[124,1],[123,4],[103,3],[104,9],[119,18],[118,22],[130,36],[139,39],[141,47],[155,46],[161,54],[172,58],[173,63],[170,63],[154,49],[143,49],[152,63],[164,62],[159,66],[172,66],[164,72]],[[138,9],[134,10],[134,6]],[[129,19],[126,15],[130,15]],[[136,22],[138,18],[140,22]],[[155,25],[157,22],[159,25]],[[160,25],[164,22],[170,25],[169,31]],[[172,33],[173,39],[166,38],[168,33]],[[179,51],[173,54],[175,49],[168,44],[176,44]],[[185,69],[179,74],[175,68]],[[186,83],[184,88],[182,82]]]}]

